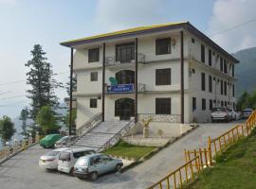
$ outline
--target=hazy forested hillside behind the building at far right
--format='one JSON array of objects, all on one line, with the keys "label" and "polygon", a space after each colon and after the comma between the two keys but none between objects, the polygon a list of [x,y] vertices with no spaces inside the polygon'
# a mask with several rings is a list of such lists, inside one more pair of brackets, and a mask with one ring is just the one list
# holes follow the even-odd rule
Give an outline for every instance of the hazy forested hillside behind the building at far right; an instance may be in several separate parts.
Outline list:
[{"label": "hazy forested hillside behind the building at far right", "polygon": [[256,89],[256,47],[238,51],[233,56],[240,60],[235,67],[236,96],[240,96],[244,91]]}]

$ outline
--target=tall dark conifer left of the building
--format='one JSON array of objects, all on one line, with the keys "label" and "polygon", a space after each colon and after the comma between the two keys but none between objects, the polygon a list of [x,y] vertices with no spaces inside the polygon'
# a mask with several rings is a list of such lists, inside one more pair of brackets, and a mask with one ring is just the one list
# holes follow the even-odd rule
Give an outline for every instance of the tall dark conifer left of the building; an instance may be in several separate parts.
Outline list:
[{"label": "tall dark conifer left of the building", "polygon": [[27,97],[31,99],[30,118],[34,121],[39,110],[49,105],[53,112],[59,108],[59,99],[54,90],[63,87],[61,82],[53,78],[51,64],[47,62],[46,52],[40,44],[35,44],[31,50],[32,59],[25,64],[29,71],[27,72],[27,84],[31,89],[27,90]]}]

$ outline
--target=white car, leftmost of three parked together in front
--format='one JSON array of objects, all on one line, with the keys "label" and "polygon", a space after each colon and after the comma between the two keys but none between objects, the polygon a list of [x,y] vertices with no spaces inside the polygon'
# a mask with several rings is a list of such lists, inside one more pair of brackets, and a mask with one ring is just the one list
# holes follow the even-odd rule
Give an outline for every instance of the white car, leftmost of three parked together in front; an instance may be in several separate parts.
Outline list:
[{"label": "white car, leftmost of three parked together in front", "polygon": [[66,149],[68,148],[64,147],[47,152],[45,155],[40,157],[39,166],[47,170],[58,169],[59,155]]}]

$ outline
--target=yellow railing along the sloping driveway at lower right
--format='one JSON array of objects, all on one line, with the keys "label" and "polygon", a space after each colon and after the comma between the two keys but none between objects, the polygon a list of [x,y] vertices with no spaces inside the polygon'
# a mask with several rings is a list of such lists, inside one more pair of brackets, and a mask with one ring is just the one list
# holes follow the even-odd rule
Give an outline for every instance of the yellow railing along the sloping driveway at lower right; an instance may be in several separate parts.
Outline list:
[{"label": "yellow railing along the sloping driveway at lower right", "polygon": [[[185,149],[184,154],[186,163],[162,180],[157,181],[148,189],[162,189],[166,187],[182,188],[184,181],[188,181],[189,179],[194,180],[194,177],[197,175],[196,173],[200,172],[204,167],[212,165],[214,155],[223,153],[229,146],[235,144],[239,139],[248,136],[254,127],[256,127],[256,111],[252,112],[247,118],[246,125],[237,125],[214,139],[209,137],[207,147],[193,150]],[[185,173],[182,174],[183,169],[185,170]],[[178,180],[176,175],[178,175]],[[171,180],[173,180],[173,184],[171,184]]]}]

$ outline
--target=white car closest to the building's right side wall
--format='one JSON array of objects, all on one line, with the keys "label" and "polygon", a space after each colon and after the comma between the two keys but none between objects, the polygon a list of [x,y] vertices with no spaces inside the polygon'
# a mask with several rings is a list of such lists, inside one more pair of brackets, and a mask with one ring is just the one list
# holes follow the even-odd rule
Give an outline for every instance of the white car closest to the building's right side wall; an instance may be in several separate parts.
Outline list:
[{"label": "white car closest to the building's right side wall", "polygon": [[215,121],[226,121],[229,122],[230,120],[230,113],[227,108],[219,107],[213,108],[211,110],[211,122],[214,123]]}]

